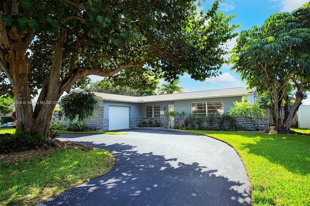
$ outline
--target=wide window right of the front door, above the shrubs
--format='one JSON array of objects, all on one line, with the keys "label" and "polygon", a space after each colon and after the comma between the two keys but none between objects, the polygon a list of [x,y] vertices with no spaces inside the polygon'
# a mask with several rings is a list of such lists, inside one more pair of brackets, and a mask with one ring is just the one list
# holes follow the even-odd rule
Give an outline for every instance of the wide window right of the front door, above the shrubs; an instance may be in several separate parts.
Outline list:
[{"label": "wide window right of the front door, above the shrubs", "polygon": [[207,115],[210,113],[224,113],[223,102],[191,103],[192,115]]}]

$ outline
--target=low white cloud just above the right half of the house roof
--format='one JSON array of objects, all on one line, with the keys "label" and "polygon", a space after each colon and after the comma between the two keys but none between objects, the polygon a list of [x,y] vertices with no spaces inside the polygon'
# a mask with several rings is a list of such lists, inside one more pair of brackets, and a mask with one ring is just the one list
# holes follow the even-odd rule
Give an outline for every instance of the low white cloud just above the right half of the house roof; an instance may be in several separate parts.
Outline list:
[{"label": "low white cloud just above the right half of the house roof", "polygon": [[205,84],[221,85],[222,88],[244,87],[245,83],[234,77],[232,74],[225,72],[217,77],[207,78]]}]

